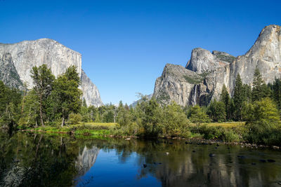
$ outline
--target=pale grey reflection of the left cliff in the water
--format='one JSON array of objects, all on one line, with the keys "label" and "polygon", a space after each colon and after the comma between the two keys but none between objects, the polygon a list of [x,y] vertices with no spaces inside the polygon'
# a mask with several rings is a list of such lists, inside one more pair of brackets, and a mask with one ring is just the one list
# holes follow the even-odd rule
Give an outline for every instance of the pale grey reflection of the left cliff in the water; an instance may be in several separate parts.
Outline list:
[{"label": "pale grey reflection of the left cliff in the water", "polygon": [[75,167],[78,170],[79,176],[86,174],[86,172],[93,167],[93,164],[96,162],[96,158],[98,157],[99,151],[100,149],[96,146],[93,146],[92,148],[87,148],[84,146],[82,153],[79,151],[79,155],[75,161]]}]

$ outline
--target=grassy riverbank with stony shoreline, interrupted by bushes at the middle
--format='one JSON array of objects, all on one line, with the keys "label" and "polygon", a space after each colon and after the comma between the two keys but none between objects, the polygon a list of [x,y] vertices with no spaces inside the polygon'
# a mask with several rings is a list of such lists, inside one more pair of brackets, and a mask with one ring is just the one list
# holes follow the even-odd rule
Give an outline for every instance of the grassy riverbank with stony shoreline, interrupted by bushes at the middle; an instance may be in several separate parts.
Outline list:
[{"label": "grassy riverbank with stony shoreline, interrupted by bushes at the middle", "polygon": [[[241,137],[241,131],[244,127],[244,122],[229,122],[229,123],[205,123],[200,125],[190,125],[190,134],[188,137],[165,137],[159,136],[157,140],[158,143],[171,144],[171,140],[179,139],[185,140],[185,144],[229,144],[229,145],[239,145],[247,148],[274,148],[281,149],[280,146],[272,145],[258,145],[249,144],[249,142],[244,141]],[[75,136],[84,137],[110,137],[119,139],[138,139],[139,136],[125,135],[125,134],[115,134],[114,129],[117,127],[116,123],[83,123],[77,125],[66,125],[64,127],[33,127],[33,128],[22,128],[18,127],[21,132],[34,132],[34,133],[47,133],[47,134],[69,134]],[[197,132],[201,132],[197,133]],[[229,132],[232,134],[229,135]],[[218,136],[219,134],[219,136]],[[226,135],[228,137],[226,137]],[[231,139],[231,137],[235,139]],[[240,136],[240,138],[239,138]],[[151,137],[145,137],[151,138]],[[160,141],[161,140],[161,141]]]}]

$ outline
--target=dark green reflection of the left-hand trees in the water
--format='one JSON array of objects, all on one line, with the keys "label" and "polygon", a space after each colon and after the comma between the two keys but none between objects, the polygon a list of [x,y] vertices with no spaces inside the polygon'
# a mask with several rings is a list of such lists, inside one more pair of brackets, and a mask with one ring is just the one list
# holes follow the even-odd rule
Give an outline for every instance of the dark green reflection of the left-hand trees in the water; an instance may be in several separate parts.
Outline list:
[{"label": "dark green reflection of the left-hand trees in the water", "polygon": [[0,138],[0,186],[72,186],[79,147],[89,146],[46,134],[0,133]]}]

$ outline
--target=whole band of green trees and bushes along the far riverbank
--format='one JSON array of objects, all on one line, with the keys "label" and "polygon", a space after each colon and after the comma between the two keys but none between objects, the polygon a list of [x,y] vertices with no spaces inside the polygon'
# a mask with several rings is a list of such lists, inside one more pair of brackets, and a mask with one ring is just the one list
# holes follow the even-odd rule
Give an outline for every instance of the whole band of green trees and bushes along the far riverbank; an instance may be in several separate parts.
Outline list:
[{"label": "whole band of green trees and bushes along the far riverbank", "polygon": [[[0,81],[0,126],[6,130],[37,127],[72,127],[86,123],[115,123],[105,129],[112,135],[136,137],[184,137],[246,141],[255,144],[280,145],[281,81],[266,83],[255,70],[252,85],[242,83],[237,75],[233,97],[226,85],[221,96],[208,106],[180,106],[175,102],[159,104],[155,98],[140,95],[136,107],[119,102],[118,106],[86,106],[79,90],[76,67],[69,67],[55,78],[45,64],[31,71],[34,87],[24,90],[8,88]],[[216,127],[211,122],[244,122],[243,125]],[[80,126],[81,127],[81,126]]]}]

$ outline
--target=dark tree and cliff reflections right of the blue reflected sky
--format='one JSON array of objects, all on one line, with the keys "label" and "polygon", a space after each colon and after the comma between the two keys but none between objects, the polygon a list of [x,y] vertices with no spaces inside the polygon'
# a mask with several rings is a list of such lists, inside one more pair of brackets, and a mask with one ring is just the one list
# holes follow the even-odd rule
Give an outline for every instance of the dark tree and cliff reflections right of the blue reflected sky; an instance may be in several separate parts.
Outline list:
[{"label": "dark tree and cliff reflections right of the blue reflected sky", "polygon": [[[281,177],[278,172],[280,167],[272,170],[270,163],[251,165],[251,162],[259,162],[259,158],[254,152],[245,152],[238,146],[230,149],[220,146],[216,149],[213,145],[185,145],[183,141],[174,141],[171,145],[156,141],[115,139],[96,141],[96,146],[105,151],[115,148],[122,162],[136,152],[140,167],[137,179],[150,174],[161,181],[162,186],[264,186]],[[209,153],[216,155],[209,157]],[[254,156],[237,158],[237,155],[249,153]],[[143,164],[148,167],[143,167]]]}]

